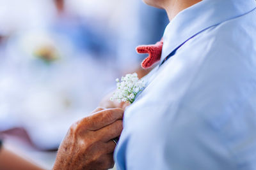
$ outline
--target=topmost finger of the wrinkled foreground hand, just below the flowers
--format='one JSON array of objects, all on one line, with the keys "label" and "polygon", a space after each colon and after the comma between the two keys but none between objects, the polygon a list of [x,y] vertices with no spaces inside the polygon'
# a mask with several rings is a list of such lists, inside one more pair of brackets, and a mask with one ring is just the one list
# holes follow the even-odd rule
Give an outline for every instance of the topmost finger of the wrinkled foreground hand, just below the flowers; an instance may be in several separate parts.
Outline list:
[{"label": "topmost finger of the wrinkled foreground hand, just below the flowers", "polygon": [[79,124],[86,125],[86,128],[91,131],[97,131],[102,127],[113,124],[116,120],[122,120],[124,110],[120,108],[107,109],[94,113],[93,115],[83,118]]}]

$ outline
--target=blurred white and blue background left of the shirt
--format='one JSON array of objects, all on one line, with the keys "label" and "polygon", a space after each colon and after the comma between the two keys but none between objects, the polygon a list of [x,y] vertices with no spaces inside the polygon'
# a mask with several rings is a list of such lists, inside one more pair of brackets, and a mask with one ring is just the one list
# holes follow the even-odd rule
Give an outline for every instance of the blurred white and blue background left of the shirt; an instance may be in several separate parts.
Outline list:
[{"label": "blurred white and blue background left of the shirt", "polygon": [[140,0],[0,0],[0,138],[51,169],[68,127],[140,67],[163,36]]}]

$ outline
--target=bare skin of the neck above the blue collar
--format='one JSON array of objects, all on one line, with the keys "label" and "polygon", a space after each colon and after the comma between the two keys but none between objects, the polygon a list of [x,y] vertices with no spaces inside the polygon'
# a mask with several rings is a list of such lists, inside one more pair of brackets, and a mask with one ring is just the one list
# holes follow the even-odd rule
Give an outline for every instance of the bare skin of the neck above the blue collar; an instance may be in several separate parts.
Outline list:
[{"label": "bare skin of the neck above the blue collar", "polygon": [[164,4],[164,10],[166,10],[169,20],[171,21],[180,11],[199,3],[202,0],[168,0]]}]

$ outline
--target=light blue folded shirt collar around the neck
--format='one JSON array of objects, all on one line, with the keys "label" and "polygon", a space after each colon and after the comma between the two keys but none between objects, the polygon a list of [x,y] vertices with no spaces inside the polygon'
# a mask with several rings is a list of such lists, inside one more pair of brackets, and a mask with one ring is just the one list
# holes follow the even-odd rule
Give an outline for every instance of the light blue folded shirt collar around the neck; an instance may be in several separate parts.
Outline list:
[{"label": "light blue folded shirt collar around the neck", "polygon": [[255,0],[203,0],[181,11],[164,31],[161,62],[201,31],[256,8]]}]

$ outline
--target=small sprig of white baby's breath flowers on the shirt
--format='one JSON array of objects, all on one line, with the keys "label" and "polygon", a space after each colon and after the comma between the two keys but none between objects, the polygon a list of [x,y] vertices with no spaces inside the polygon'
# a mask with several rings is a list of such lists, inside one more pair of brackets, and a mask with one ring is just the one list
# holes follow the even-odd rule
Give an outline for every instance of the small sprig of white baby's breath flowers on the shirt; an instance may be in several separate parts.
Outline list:
[{"label": "small sprig of white baby's breath flowers on the shirt", "polygon": [[137,73],[126,74],[122,76],[121,81],[116,78],[116,90],[113,96],[110,98],[111,101],[129,102],[132,104],[136,95],[145,88],[144,80],[138,78]]}]

